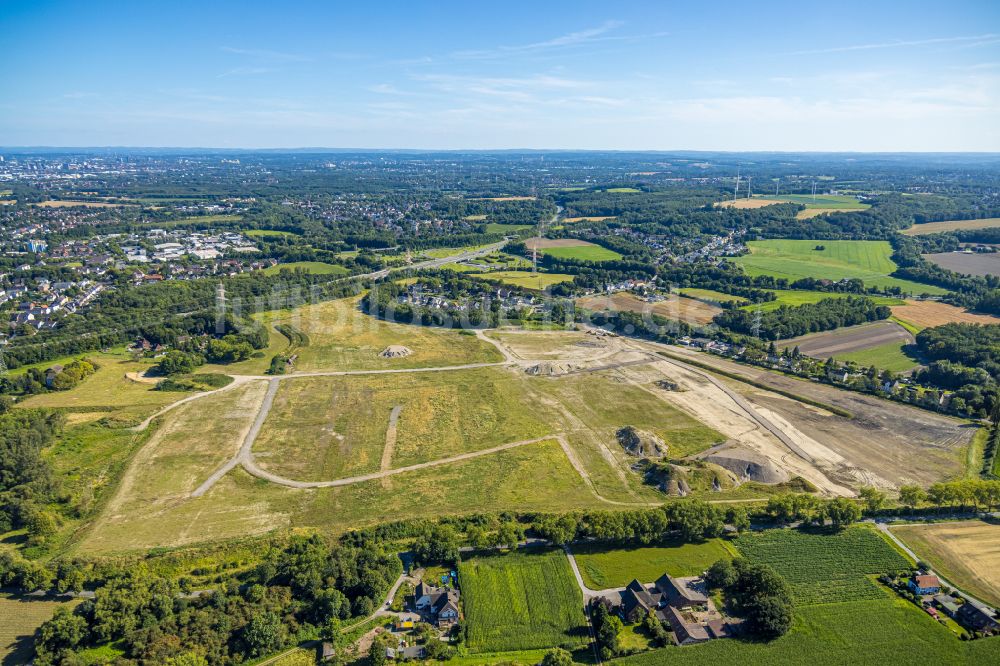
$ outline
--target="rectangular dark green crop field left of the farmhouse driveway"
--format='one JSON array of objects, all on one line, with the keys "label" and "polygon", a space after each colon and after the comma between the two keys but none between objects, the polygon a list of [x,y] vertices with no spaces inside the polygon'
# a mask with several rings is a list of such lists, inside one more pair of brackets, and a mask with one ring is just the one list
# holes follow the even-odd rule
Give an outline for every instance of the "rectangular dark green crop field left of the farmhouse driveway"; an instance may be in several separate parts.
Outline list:
[{"label": "rectangular dark green crop field left of the farmhouse driveway", "polygon": [[561,550],[475,558],[458,568],[473,652],[588,642],[583,595]]}]

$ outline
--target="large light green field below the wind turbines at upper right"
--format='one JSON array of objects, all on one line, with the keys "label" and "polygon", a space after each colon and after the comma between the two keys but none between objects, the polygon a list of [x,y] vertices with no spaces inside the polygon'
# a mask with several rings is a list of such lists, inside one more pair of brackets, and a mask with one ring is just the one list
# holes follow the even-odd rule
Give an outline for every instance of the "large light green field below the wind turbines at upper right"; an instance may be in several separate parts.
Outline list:
[{"label": "large light green field below the wind turbines at upper right", "polygon": [[889,277],[896,264],[887,241],[765,240],[747,245],[750,254],[732,261],[750,275],[771,275],[789,282],[806,277],[858,278],[868,287],[899,287],[912,294],[946,293],[940,287]]}]

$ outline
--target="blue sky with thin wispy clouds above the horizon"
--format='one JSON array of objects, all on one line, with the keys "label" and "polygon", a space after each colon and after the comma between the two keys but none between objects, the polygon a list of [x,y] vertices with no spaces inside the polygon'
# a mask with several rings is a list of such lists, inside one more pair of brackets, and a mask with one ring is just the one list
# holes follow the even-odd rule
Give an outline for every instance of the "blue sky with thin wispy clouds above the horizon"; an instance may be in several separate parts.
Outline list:
[{"label": "blue sky with thin wispy clouds above the horizon", "polygon": [[0,145],[1000,151],[1000,2],[0,0]]}]

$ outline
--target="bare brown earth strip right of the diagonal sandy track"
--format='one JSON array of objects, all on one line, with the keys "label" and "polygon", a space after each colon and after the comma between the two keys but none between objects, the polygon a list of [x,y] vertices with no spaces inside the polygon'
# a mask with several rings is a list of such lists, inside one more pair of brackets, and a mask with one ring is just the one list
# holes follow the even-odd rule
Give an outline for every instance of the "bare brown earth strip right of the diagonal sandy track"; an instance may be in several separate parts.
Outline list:
[{"label": "bare brown earth strip right of the diagonal sandy track", "polygon": [[[757,386],[720,377],[785,432],[802,441],[811,440],[813,449],[822,447],[839,456],[841,460],[831,465],[834,469],[827,471],[833,481],[847,485],[888,482],[897,486],[904,483],[926,486],[942,478],[959,478],[965,471],[968,445],[978,428],[960,419],[741,365],[684,347],[645,345],[754,382]],[[846,410],[851,416],[837,416],[758,386]]]}]

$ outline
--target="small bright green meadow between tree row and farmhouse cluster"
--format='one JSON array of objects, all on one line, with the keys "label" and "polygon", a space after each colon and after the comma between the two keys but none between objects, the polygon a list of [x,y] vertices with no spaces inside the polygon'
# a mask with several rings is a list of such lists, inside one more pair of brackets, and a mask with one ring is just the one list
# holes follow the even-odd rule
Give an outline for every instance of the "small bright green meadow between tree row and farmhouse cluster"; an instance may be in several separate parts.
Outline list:
[{"label": "small bright green meadow between tree row and farmhouse cluster", "polygon": [[625,587],[633,579],[651,583],[664,573],[697,576],[717,560],[731,559],[733,549],[721,539],[613,549],[582,544],[573,546],[573,556],[587,587],[605,590]]}]

